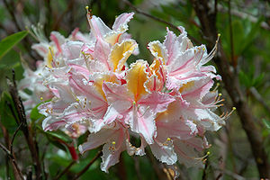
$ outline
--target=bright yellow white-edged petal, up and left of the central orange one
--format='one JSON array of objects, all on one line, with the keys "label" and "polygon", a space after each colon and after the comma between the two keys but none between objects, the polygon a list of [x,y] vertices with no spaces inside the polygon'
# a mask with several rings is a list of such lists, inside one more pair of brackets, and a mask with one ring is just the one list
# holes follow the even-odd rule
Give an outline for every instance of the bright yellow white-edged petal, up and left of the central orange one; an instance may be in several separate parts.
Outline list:
[{"label": "bright yellow white-edged petal, up and left of the central orange one", "polygon": [[112,52],[109,60],[112,65],[112,70],[121,71],[127,59],[130,57],[133,50],[137,47],[135,40],[125,40],[121,44],[115,44],[112,47]]}]

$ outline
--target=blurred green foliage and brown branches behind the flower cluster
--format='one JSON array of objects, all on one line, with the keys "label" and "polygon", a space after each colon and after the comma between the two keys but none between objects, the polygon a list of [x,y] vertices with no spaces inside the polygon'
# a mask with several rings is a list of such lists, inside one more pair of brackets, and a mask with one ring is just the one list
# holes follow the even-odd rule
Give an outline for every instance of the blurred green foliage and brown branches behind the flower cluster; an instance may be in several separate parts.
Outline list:
[{"label": "blurred green foliage and brown branches behind the flower cluster", "polygon": [[[163,41],[166,27],[175,31],[175,26],[184,26],[194,45],[206,44],[213,48],[220,33],[220,45],[211,64],[217,67],[223,81],[218,87],[224,106],[218,111],[230,112],[237,107],[218,132],[208,132],[211,154],[204,169],[186,168],[179,165],[179,179],[259,179],[270,175],[270,2],[263,0],[1,0],[0,39],[18,31],[43,25],[44,35],[59,31],[67,37],[76,27],[88,32],[85,5],[94,15],[103,19],[109,27],[117,15],[134,12],[128,31],[139,43],[139,55],[129,58],[152,60],[148,42]],[[20,43],[0,59],[0,92],[7,90],[5,76],[23,78],[23,58],[32,69],[42,58],[31,50],[37,40],[28,34]],[[13,116],[4,109],[2,95],[0,142],[6,136],[12,138],[17,129]],[[5,131],[4,131],[5,130]],[[35,130],[44,179],[53,179],[67,167],[72,158],[67,148],[60,147],[52,135]],[[80,137],[79,141],[84,141]],[[31,172],[31,155],[24,143],[22,132],[14,140],[14,154],[23,172]],[[79,142],[78,142],[79,143]],[[60,179],[72,179],[94,157],[92,150],[80,157],[79,163],[71,166]],[[0,150],[0,179],[10,175],[13,167]],[[100,160],[85,172],[80,179],[169,179],[162,165],[148,154],[146,157],[130,157],[124,152],[121,163],[112,166],[109,174],[100,170]],[[269,177],[269,176],[268,176]]]}]

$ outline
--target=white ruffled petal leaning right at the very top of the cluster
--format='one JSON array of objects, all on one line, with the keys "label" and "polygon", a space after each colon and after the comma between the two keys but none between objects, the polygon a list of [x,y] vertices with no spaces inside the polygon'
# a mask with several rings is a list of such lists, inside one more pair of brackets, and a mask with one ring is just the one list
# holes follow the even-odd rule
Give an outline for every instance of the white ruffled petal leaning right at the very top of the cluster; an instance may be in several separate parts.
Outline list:
[{"label": "white ruffled petal leaning right at the very top of the cluster", "polygon": [[114,31],[127,31],[128,25],[127,23],[133,18],[134,13],[131,12],[129,14],[121,14],[116,19],[112,25],[112,30]]}]

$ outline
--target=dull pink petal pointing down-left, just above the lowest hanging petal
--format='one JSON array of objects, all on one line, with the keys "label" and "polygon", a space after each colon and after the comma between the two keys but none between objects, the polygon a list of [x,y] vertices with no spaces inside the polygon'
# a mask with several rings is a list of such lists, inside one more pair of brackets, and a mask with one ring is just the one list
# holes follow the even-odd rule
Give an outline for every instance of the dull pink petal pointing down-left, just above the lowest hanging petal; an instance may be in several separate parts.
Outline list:
[{"label": "dull pink petal pointing down-left, just above the lowest hanging petal", "polygon": [[117,131],[118,130],[113,129],[103,129],[96,133],[91,133],[88,136],[87,141],[78,147],[80,153],[83,154],[87,150],[103,145],[104,143],[108,142],[112,136],[117,133]]}]

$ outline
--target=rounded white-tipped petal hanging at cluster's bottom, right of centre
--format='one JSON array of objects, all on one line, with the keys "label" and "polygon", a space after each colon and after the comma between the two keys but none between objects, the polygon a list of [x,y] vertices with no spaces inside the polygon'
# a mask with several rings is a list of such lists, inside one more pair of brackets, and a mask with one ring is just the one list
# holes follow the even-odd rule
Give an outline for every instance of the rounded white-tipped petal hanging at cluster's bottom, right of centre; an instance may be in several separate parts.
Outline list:
[{"label": "rounded white-tipped petal hanging at cluster's bottom, right of centre", "polygon": [[171,140],[164,143],[157,142],[150,145],[153,155],[162,163],[173,165],[177,161],[177,155],[174,151],[174,146]]}]

